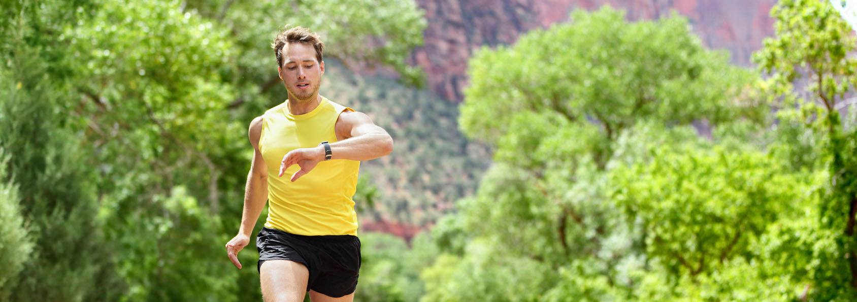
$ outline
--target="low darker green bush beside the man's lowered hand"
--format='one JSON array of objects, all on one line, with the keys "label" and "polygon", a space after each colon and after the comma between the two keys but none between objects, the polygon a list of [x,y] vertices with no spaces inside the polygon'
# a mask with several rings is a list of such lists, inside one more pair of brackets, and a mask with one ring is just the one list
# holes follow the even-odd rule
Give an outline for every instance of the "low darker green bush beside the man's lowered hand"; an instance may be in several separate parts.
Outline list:
[{"label": "low darker green bush beside the man's lowered hand", "polygon": [[[106,220],[123,220],[114,225],[109,238],[121,245],[122,265],[118,271],[129,285],[123,299],[132,301],[234,300],[237,271],[231,263],[207,263],[199,259],[219,259],[223,250],[216,242],[229,238],[219,233],[219,220],[212,218],[188,190],[176,187],[169,196],[154,196],[153,204],[164,214],[152,211],[131,213],[104,211]],[[142,208],[147,209],[147,208]],[[130,234],[145,234],[132,236]],[[253,261],[245,260],[245,263]],[[254,268],[254,265],[248,265]],[[153,290],[156,289],[156,290]]]}]

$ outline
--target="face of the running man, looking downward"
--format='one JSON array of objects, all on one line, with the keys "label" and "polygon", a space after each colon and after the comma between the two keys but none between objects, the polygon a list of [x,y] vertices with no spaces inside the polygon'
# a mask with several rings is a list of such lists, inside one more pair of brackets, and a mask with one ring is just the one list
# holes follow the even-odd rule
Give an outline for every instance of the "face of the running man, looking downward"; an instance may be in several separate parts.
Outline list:
[{"label": "face of the running man, looking downward", "polygon": [[318,93],[321,75],[324,75],[324,62],[315,58],[315,48],[305,43],[287,43],[282,56],[279,78],[285,83],[290,97],[311,100]]}]

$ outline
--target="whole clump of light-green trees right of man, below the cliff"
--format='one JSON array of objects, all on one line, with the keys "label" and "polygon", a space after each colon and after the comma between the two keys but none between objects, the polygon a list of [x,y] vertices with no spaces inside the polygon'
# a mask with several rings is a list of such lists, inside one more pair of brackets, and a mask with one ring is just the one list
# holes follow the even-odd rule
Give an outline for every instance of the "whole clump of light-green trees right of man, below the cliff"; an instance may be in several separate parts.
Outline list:
[{"label": "whole clump of light-green trees right of man, below the cliff", "polygon": [[812,141],[759,134],[770,90],[686,21],[576,12],[483,49],[470,76],[460,124],[494,165],[432,232],[424,299],[797,299],[828,271],[832,241],[788,245],[821,239],[794,238],[817,156],[781,144]]}]

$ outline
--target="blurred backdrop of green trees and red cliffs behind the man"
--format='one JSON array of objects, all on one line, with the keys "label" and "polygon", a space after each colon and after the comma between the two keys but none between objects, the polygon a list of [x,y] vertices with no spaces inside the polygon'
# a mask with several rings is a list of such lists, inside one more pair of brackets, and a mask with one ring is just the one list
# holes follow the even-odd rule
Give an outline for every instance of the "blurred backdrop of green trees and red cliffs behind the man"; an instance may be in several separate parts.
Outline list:
[{"label": "blurred backdrop of green trees and red cliffs behind the man", "polygon": [[855,300],[854,5],[0,0],[0,300],[261,300],[286,24],[396,142],[357,301]]}]

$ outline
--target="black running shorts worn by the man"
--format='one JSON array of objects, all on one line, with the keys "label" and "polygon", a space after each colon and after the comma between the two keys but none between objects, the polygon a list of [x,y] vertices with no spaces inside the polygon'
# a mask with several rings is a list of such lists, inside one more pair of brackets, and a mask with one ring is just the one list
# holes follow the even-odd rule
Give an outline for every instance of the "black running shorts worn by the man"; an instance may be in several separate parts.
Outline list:
[{"label": "black running shorts worn by the man", "polygon": [[266,260],[291,260],[309,270],[307,291],[333,298],[354,293],[360,273],[360,239],[351,235],[303,236],[262,227],[256,236],[261,272]]}]

